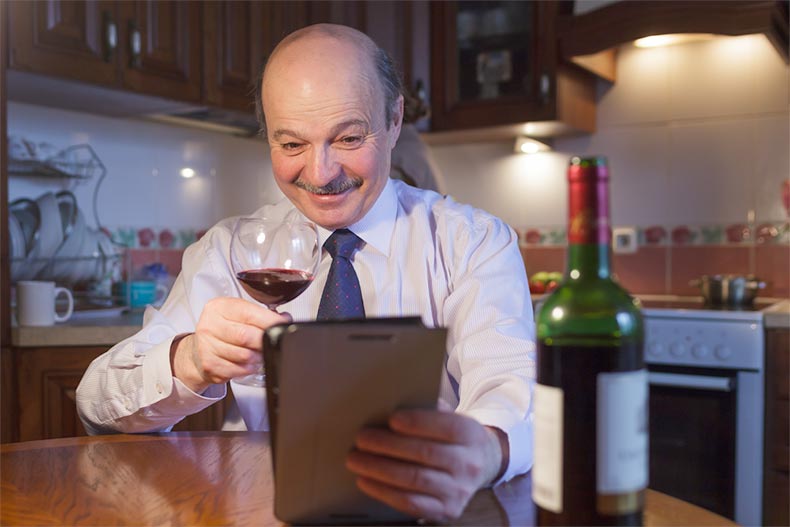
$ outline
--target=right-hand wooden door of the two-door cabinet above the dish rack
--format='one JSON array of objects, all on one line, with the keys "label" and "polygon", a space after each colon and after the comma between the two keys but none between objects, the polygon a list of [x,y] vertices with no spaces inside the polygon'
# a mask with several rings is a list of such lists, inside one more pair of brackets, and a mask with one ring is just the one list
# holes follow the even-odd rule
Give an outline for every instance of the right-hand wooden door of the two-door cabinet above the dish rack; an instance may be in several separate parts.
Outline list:
[{"label": "right-hand wooden door of the two-door cabinet above the dish rack", "polygon": [[178,101],[201,98],[201,4],[121,2],[123,88]]}]

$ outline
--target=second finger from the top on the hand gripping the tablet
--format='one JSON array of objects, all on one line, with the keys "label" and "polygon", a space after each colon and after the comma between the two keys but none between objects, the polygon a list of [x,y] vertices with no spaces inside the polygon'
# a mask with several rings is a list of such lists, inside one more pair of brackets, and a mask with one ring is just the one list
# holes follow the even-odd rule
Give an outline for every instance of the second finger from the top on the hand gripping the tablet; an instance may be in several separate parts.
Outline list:
[{"label": "second finger from the top on the hand gripping the tablet", "polygon": [[452,472],[458,448],[447,443],[396,434],[380,428],[363,428],[357,433],[355,446],[370,454],[401,459]]}]

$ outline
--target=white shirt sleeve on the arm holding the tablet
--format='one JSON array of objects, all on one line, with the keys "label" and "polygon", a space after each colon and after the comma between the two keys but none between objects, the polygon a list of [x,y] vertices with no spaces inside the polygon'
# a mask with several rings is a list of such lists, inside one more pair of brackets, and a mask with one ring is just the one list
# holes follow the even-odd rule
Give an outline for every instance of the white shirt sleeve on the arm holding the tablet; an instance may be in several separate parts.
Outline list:
[{"label": "white shirt sleeve on the arm holding the tablet", "polygon": [[524,262],[515,232],[487,215],[452,239],[444,307],[456,411],[505,432],[510,460],[498,482],[507,481],[532,467],[535,323]]}]

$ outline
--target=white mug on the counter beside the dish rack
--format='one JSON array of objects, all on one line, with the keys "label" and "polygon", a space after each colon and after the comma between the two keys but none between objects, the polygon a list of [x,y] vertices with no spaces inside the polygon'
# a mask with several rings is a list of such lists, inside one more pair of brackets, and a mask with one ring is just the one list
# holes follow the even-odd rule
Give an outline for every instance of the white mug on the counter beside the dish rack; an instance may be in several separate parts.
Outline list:
[{"label": "white mug on the counter beside the dish rack", "polygon": [[[63,314],[55,310],[55,299],[65,295],[68,308]],[[16,320],[20,326],[52,326],[65,322],[74,311],[74,297],[65,287],[55,287],[55,282],[22,280],[16,284]]]}]

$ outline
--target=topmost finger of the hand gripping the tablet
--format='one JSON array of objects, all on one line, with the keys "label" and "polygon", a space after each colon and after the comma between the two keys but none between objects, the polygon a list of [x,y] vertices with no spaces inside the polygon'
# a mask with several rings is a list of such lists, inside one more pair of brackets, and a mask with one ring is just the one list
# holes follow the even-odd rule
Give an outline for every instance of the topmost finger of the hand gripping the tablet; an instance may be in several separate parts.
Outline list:
[{"label": "topmost finger of the hand gripping the tablet", "polygon": [[389,425],[401,434],[452,444],[474,444],[485,433],[470,417],[438,410],[398,410],[390,416]]}]

